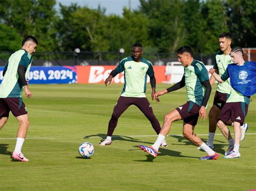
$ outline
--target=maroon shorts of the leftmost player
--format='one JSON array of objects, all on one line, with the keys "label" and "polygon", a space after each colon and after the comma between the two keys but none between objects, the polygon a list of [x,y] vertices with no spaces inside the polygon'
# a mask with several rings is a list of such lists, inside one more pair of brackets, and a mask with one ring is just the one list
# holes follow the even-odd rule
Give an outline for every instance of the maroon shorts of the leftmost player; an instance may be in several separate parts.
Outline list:
[{"label": "maroon shorts of the leftmost player", "polygon": [[15,117],[28,114],[21,97],[0,98],[0,117],[9,117],[9,112]]}]

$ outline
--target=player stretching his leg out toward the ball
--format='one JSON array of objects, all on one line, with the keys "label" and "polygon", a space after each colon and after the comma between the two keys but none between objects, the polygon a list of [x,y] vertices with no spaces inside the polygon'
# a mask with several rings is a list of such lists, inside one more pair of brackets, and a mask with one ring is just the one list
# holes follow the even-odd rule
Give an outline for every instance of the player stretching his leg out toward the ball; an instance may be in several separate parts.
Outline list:
[{"label": "player stretching his leg out toward the ball", "polygon": [[177,50],[178,61],[184,66],[184,75],[180,82],[154,95],[158,98],[171,91],[186,87],[187,102],[180,107],[172,110],[164,116],[164,124],[158,135],[156,142],[152,146],[139,145],[147,153],[157,157],[158,149],[166,135],[171,130],[172,122],[183,120],[183,136],[195,145],[207,152],[206,157],[201,160],[217,159],[218,154],[208,147],[195,133],[194,128],[197,124],[198,117],[206,119],[206,105],[211,94],[211,84],[209,82],[208,72],[203,62],[193,59],[191,47],[182,46]]}]

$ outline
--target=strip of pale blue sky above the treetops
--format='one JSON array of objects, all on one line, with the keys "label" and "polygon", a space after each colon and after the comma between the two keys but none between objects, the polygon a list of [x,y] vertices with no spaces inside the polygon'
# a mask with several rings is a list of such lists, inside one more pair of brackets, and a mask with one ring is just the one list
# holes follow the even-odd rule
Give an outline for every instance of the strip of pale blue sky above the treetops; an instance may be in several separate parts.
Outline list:
[{"label": "strip of pale blue sky above the treetops", "polygon": [[133,10],[137,9],[140,5],[139,0],[56,0],[56,4],[59,3],[63,5],[77,3],[80,6],[87,6],[90,9],[97,9],[100,4],[102,8],[106,8],[106,15],[115,14],[119,16],[122,16],[124,6],[129,8],[130,5]]}]

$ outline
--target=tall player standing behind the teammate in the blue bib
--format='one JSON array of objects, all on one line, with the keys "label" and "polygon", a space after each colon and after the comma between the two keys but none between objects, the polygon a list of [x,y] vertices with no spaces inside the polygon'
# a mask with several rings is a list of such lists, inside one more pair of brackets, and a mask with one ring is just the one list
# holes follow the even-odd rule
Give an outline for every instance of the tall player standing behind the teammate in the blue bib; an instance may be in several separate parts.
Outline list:
[{"label": "tall player standing behind the teammate in the blue bib", "polygon": [[[215,62],[213,64],[213,68],[215,69],[215,73],[219,75],[223,75],[227,65],[232,63],[230,52],[231,52],[231,34],[224,32],[219,36],[219,46],[220,51],[215,55]],[[215,79],[213,76],[210,77],[211,85],[214,84]],[[209,136],[206,144],[213,148],[213,139],[215,136],[215,131],[217,129],[217,120],[220,115],[220,111],[223,109],[224,104],[227,101],[227,98],[230,96],[231,86],[230,81],[227,80],[224,83],[218,83],[216,93],[213,100],[212,108],[209,111]],[[227,122],[227,125],[231,126],[232,122]],[[241,140],[245,138],[245,132],[248,129],[248,124],[245,123],[241,126]]]}]

